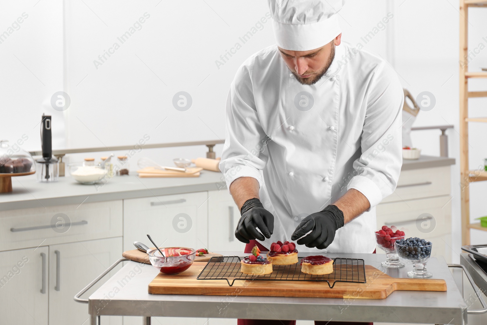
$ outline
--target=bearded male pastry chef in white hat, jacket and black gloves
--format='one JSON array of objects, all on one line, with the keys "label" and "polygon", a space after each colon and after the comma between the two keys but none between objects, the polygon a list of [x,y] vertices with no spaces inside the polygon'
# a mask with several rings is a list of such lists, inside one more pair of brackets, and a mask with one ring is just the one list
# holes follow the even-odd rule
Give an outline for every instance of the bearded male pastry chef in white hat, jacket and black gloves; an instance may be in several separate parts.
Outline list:
[{"label": "bearded male pastry chef in white hat, jacket and black gloves", "polygon": [[402,165],[401,84],[342,42],[344,0],[268,2],[277,45],[242,64],[226,101],[220,169],[241,210],[235,236],[245,252],[288,240],[372,253],[375,206]]}]

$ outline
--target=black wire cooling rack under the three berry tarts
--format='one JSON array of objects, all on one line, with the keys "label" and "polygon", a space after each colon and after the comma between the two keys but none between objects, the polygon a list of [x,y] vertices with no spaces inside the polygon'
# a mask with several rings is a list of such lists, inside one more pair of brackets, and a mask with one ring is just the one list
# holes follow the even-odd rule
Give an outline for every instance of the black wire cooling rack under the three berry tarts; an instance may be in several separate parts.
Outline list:
[{"label": "black wire cooling rack under the three berry tarts", "polygon": [[[240,271],[243,257],[216,256],[212,257],[198,275],[198,280],[226,280],[231,287],[235,280],[276,280],[276,281],[325,281],[330,288],[337,282],[366,283],[365,263],[357,258],[333,258],[333,273],[311,275],[301,272],[301,259],[297,264],[273,265],[272,273],[265,275],[249,275]],[[231,281],[231,284],[230,284]]]}]

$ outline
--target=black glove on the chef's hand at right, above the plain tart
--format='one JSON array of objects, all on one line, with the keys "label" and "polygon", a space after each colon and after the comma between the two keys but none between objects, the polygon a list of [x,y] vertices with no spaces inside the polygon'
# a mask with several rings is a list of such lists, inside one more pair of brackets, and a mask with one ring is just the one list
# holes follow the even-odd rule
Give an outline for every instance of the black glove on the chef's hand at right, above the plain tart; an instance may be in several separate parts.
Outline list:
[{"label": "black glove on the chef's hand at right, above the plain tart", "polygon": [[291,240],[296,240],[311,231],[297,243],[306,247],[325,249],[333,242],[335,232],[343,227],[343,224],[343,212],[337,206],[329,205],[304,218],[291,235]]}]

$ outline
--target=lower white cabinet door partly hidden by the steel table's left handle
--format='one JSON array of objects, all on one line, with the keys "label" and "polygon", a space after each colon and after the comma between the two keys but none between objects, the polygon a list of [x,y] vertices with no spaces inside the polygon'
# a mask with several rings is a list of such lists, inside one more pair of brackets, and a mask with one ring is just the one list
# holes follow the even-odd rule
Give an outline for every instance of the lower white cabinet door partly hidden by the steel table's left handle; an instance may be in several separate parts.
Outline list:
[{"label": "lower white cabinet door partly hidden by the steel table's left handle", "polygon": [[[73,297],[121,255],[121,237],[49,246],[49,325],[88,324],[88,305],[75,302]],[[120,268],[121,265],[113,269],[106,279]],[[103,282],[102,279],[83,298],[89,297]],[[118,325],[122,324],[122,317],[102,316],[101,322]]]}]

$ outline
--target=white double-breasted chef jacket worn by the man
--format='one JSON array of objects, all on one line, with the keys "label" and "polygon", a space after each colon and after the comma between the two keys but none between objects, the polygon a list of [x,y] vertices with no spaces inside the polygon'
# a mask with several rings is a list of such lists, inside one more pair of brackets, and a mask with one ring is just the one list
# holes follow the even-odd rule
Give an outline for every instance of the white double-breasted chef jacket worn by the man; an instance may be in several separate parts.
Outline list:
[{"label": "white double-breasted chef jacket worn by the man", "polygon": [[338,229],[327,249],[297,249],[374,251],[375,206],[395,190],[402,165],[403,102],[392,67],[343,41],[314,85],[290,74],[277,45],[242,64],[226,101],[220,170],[228,189],[239,177],[258,180],[260,200],[274,215],[263,246],[291,240],[302,218],[356,189],[370,209]]}]

